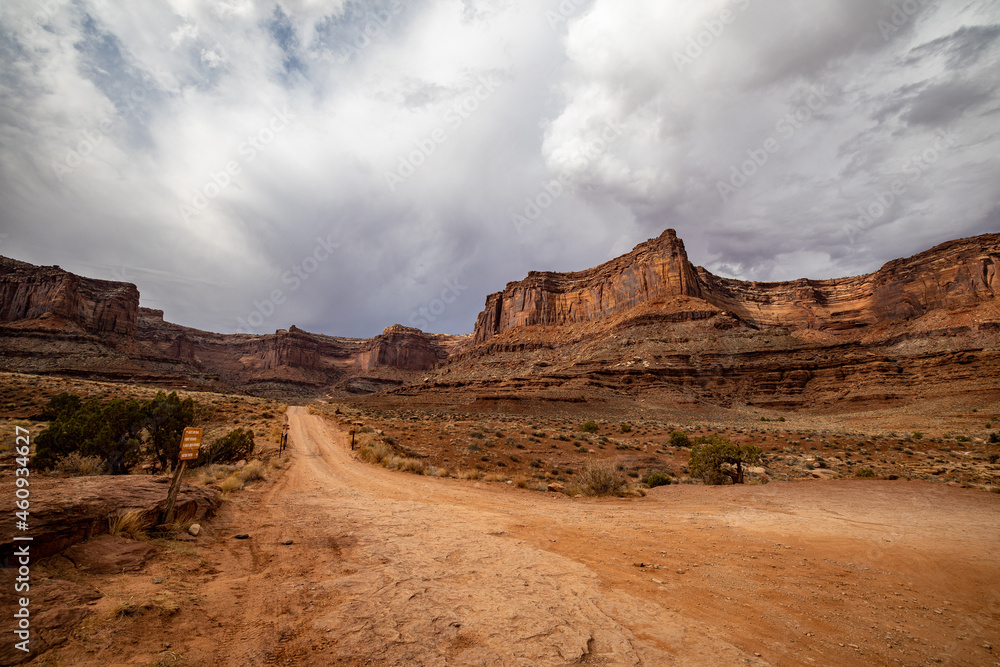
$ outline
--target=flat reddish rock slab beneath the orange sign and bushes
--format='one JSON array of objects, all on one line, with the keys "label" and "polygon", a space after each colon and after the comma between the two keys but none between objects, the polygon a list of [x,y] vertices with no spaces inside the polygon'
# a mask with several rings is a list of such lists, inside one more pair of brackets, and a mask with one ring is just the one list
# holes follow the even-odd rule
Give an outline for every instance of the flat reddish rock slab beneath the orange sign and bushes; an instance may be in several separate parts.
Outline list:
[{"label": "flat reddish rock slab beneath the orange sign and bushes", "polygon": [[[31,521],[16,529],[14,512],[0,513],[0,566],[11,564],[13,536],[32,537],[32,561],[53,556],[94,535],[106,533],[108,517],[138,510],[147,526],[159,522],[169,480],[145,475],[31,477]],[[178,521],[202,521],[219,506],[219,492],[182,484],[174,506]],[[23,545],[23,542],[19,542]]]}]

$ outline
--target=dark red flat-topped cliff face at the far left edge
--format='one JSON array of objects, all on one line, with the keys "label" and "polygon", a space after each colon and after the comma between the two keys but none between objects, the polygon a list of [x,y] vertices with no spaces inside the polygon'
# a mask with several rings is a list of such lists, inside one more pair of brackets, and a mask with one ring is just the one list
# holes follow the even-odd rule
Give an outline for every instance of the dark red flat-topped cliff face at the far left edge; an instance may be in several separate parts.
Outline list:
[{"label": "dark red flat-topped cliff face at the far left edge", "polygon": [[0,258],[0,322],[56,319],[93,334],[135,334],[139,290],[57,266]]}]

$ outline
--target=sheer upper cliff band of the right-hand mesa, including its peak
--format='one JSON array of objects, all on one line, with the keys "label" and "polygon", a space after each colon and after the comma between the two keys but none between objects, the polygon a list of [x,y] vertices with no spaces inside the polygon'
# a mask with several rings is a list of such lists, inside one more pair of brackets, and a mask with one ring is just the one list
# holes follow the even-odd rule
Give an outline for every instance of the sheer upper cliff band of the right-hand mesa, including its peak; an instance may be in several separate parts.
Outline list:
[{"label": "sheer upper cliff band of the right-hand mesa, including its peak", "polygon": [[699,297],[754,327],[857,332],[934,309],[974,306],[1000,292],[1000,234],[942,244],[875,273],[837,280],[756,283],[721,278],[687,258],[668,229],[617,259],[577,273],[536,273],[490,295],[475,343],[530,325],[610,317],[672,297]]}]

